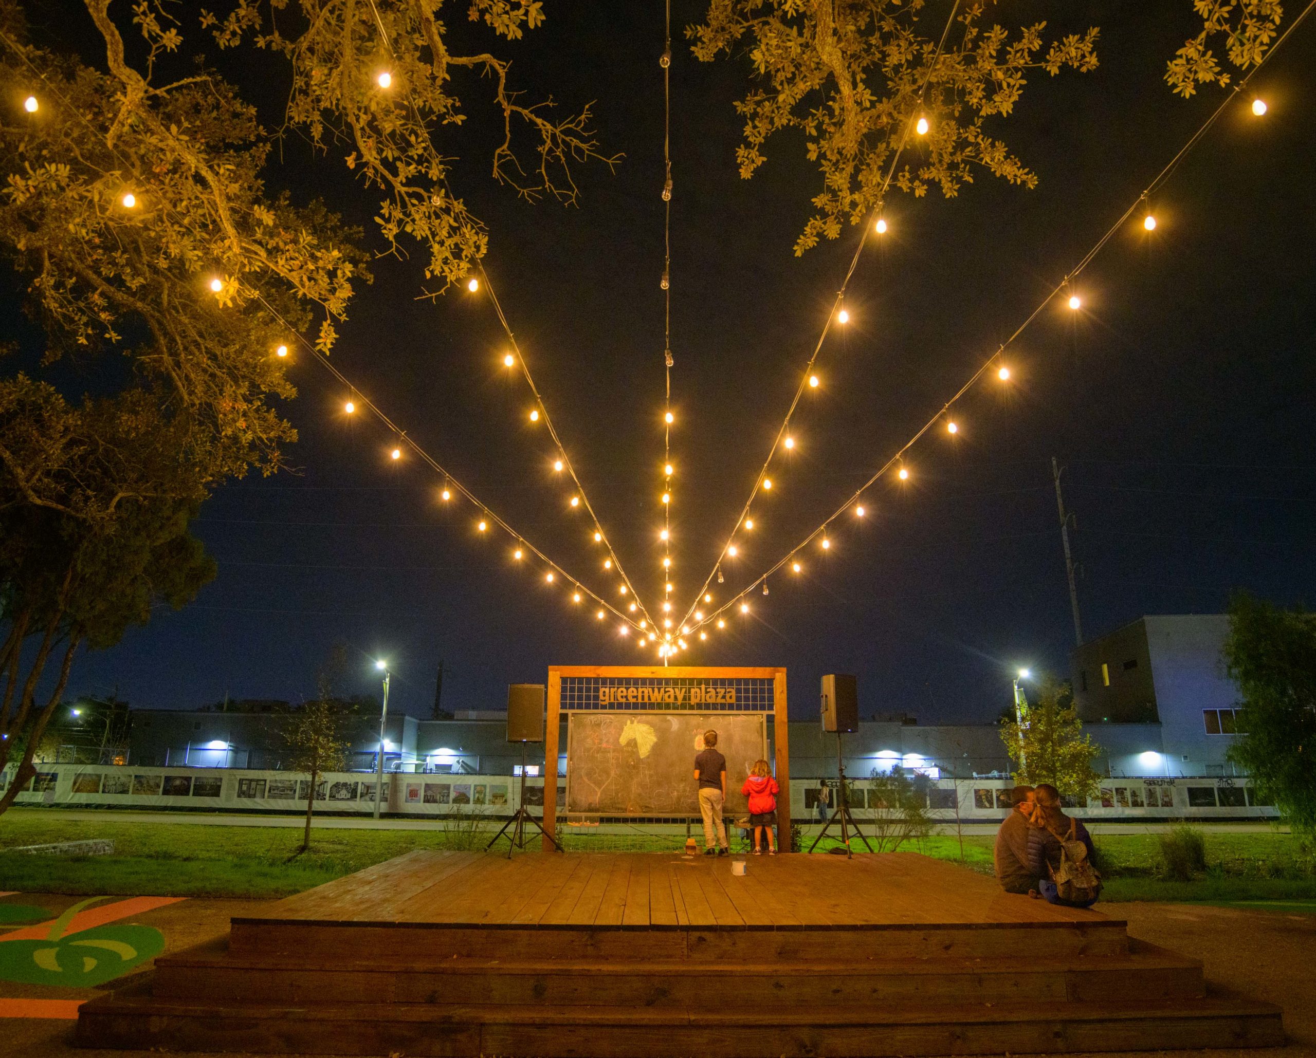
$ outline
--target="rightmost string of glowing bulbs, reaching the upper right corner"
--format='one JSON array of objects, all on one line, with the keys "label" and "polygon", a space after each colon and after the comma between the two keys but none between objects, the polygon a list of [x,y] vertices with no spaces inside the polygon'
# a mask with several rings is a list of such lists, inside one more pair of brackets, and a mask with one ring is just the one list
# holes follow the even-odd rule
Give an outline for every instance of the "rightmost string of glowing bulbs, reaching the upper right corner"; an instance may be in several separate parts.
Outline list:
[{"label": "rightmost string of glowing bulbs, reaching the upper right corner", "polygon": [[[938,422],[946,422],[948,433],[950,434],[958,433],[958,425],[955,424],[954,420],[949,418],[950,409],[959,401],[961,397],[965,396],[965,393],[967,393],[983,378],[983,375],[986,375],[992,368],[995,368],[998,379],[1000,379],[1001,382],[1009,380],[1011,370],[1005,362],[1005,350],[1009,349],[1009,346],[1019,340],[1019,337],[1024,333],[1024,330],[1026,330],[1037,320],[1037,317],[1041,316],[1041,313],[1046,309],[1046,307],[1055,301],[1057,297],[1065,295],[1067,297],[1066,304],[1071,312],[1078,312],[1083,307],[1082,297],[1076,292],[1074,280],[1083,272],[1084,268],[1087,268],[1088,264],[1092,263],[1092,261],[1096,258],[1100,250],[1111,241],[1111,238],[1113,238],[1113,236],[1119,230],[1121,230],[1126,224],[1129,224],[1130,218],[1133,218],[1138,213],[1140,207],[1144,208],[1146,207],[1146,204],[1150,201],[1150,196],[1158,188],[1161,188],[1166,183],[1166,180],[1169,180],[1170,175],[1183,162],[1188,151],[1191,151],[1192,147],[1195,147],[1202,141],[1203,136],[1205,136],[1205,133],[1212,128],[1212,125],[1215,125],[1219,117],[1240,97],[1240,93],[1244,92],[1244,89],[1248,87],[1252,79],[1270,61],[1270,58],[1275,54],[1275,51],[1279,50],[1279,46],[1288,38],[1288,36],[1295,29],[1298,29],[1299,25],[1302,25],[1302,22],[1307,18],[1307,16],[1312,12],[1312,9],[1316,9],[1316,0],[1312,0],[1303,9],[1303,12],[1294,20],[1294,22],[1288,26],[1288,29],[1275,41],[1275,43],[1270,47],[1270,50],[1266,51],[1266,54],[1261,58],[1257,66],[1254,66],[1248,72],[1246,76],[1241,78],[1234,84],[1233,91],[1230,91],[1227,99],[1215,111],[1211,112],[1211,114],[1202,122],[1202,125],[1192,133],[1192,136],[1188,137],[1187,142],[1159,170],[1159,172],[1157,172],[1157,175],[1152,179],[1152,182],[1137,195],[1137,197],[1133,200],[1129,208],[1125,209],[1119,216],[1119,218],[1100,236],[1100,238],[1098,238],[1094,246],[1086,254],[1083,254],[1083,257],[1065,275],[1065,278],[1061,279],[1061,282],[1057,283],[1054,287],[1051,287],[1051,290],[1042,297],[1042,300],[1028,315],[1028,317],[1024,318],[1024,321],[1017,328],[1015,328],[1013,333],[1004,342],[1000,343],[996,351],[994,351],[990,357],[987,357],[987,359],[978,367],[976,371],[974,371],[974,374],[969,378],[969,380],[959,387],[959,390],[954,393],[954,396],[951,396],[950,400],[948,400],[930,418],[928,418],[928,421],[924,422],[924,425],[908,441],[905,441],[904,445],[900,446],[900,449],[895,453],[895,455],[892,455],[890,459],[887,459],[887,462],[884,462],[880,467],[878,467],[878,470],[873,474],[873,476],[870,476],[862,486],[854,490],[854,492],[851,492],[840,507],[837,507],[830,515],[828,515],[821,521],[821,524],[819,524],[816,529],[804,536],[799,543],[791,547],[784,555],[782,555],[782,558],[779,558],[765,572],[759,574],[746,587],[741,588],[741,591],[738,591],[734,596],[732,596],[720,607],[717,607],[717,609],[705,615],[699,621],[699,624],[694,626],[692,630],[697,630],[704,625],[713,622],[715,620],[717,621],[719,626],[724,625],[725,621],[721,617],[721,615],[730,611],[737,603],[741,604],[741,611],[747,613],[749,604],[744,601],[745,596],[747,596],[755,588],[762,587],[770,576],[782,570],[782,567],[784,567],[787,563],[791,563],[794,567],[796,567],[796,571],[799,571],[799,563],[796,562],[796,557],[804,547],[807,547],[815,540],[820,541],[824,549],[830,549],[830,538],[828,537],[829,526],[833,522],[836,522],[840,517],[842,517],[846,513],[846,511],[853,509],[857,517],[863,517],[865,508],[862,507],[862,504],[859,504],[859,500],[862,500],[863,495],[887,474],[896,471],[898,478],[901,482],[908,480],[909,471],[908,467],[904,465],[905,454],[909,451],[911,447],[913,447],[913,445],[917,441],[920,441],[924,437],[924,434],[928,433],[928,430],[930,430]],[[1265,112],[1266,112],[1265,104],[1261,104],[1261,107],[1258,108],[1257,103],[1255,101],[1253,103],[1252,105],[1253,114],[1261,117],[1265,114]],[[1149,225],[1146,222],[1146,217],[1152,217],[1153,224]],[[1155,229],[1154,216],[1150,212],[1146,212],[1146,216],[1142,218],[1141,225],[1149,233],[1154,230]]]}]

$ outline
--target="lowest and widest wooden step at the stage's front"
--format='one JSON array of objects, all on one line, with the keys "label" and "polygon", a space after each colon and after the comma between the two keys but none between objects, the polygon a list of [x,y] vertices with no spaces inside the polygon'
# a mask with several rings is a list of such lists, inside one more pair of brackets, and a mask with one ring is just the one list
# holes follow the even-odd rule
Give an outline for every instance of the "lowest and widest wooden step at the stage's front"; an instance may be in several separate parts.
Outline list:
[{"label": "lowest and widest wooden step at the stage's front", "polygon": [[224,1005],[113,995],[83,1005],[84,1046],[250,1053],[778,1058],[1258,1047],[1279,1008],[1232,997],[826,1011],[338,1003]]}]

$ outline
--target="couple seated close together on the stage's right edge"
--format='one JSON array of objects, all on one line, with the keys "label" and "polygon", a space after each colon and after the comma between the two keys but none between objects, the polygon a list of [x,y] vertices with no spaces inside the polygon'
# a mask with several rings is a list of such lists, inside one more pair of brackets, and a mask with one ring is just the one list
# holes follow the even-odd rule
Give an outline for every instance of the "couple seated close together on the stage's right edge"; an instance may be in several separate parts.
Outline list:
[{"label": "couple seated close together on the stage's right edge", "polygon": [[1101,892],[1092,866],[1087,828],[1061,811],[1059,791],[1049,783],[1016,786],[1012,808],[996,832],[996,880],[1005,892],[1042,896],[1053,904],[1088,908]]}]

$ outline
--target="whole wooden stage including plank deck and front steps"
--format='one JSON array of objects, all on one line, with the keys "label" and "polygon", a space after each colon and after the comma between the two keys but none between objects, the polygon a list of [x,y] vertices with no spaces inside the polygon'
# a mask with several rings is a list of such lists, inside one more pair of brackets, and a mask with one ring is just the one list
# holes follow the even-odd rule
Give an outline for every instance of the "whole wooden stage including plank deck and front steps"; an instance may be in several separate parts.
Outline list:
[{"label": "whole wooden stage including plank deck and front steps", "polygon": [[[82,1008],[87,1046],[934,1055],[1269,1046],[1279,1009],[1098,912],[915,854],[417,851]],[[1117,909],[1117,905],[1113,905]]]}]

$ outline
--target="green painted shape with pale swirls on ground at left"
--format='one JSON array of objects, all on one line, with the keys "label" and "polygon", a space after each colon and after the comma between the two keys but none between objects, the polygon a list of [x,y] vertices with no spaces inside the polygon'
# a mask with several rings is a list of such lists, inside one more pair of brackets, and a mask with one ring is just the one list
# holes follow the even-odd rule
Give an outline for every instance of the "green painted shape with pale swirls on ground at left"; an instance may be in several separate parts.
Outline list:
[{"label": "green painted shape with pale swirls on ground at left", "polygon": [[79,911],[105,899],[74,904],[42,940],[0,938],[0,980],[95,988],[164,950],[164,934],[151,926],[111,924],[66,934]]}]

